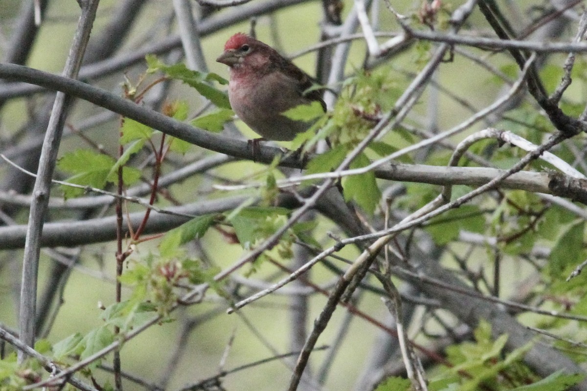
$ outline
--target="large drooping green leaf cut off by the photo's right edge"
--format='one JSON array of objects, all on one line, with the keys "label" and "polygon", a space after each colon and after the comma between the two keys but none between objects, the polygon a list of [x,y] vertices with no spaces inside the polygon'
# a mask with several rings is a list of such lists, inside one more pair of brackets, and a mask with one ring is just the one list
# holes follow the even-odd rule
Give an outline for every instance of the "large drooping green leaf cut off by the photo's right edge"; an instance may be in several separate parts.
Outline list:
[{"label": "large drooping green leaf cut off by the photo's right edge", "polygon": [[549,256],[551,276],[560,276],[566,266],[582,262],[583,232],[585,221],[579,220],[566,227],[556,239]]}]

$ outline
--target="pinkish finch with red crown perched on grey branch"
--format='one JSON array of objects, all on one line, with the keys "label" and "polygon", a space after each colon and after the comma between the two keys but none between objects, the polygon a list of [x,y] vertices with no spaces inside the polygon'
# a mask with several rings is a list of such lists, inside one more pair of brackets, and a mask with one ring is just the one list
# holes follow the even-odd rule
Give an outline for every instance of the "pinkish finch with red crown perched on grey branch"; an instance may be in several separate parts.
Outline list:
[{"label": "pinkish finch with red crown perched on grey branch", "polygon": [[230,67],[228,100],[232,110],[261,139],[291,141],[312,122],[296,121],[283,113],[301,104],[326,103],[315,81],[269,45],[236,33],[224,45],[217,62]]}]

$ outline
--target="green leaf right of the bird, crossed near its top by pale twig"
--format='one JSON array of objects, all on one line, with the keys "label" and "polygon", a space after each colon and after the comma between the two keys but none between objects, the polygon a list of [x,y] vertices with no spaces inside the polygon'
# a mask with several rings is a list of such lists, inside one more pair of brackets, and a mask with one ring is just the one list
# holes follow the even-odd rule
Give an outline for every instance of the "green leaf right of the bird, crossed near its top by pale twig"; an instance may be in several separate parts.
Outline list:
[{"label": "green leaf right of the bird, crossed near its top by pale twig", "polygon": [[[360,154],[350,164],[350,168],[360,168],[369,165],[365,154]],[[373,215],[377,203],[381,199],[381,192],[377,188],[375,173],[372,171],[360,175],[345,176],[342,179],[342,188],[345,200],[355,200],[366,213]]]}]

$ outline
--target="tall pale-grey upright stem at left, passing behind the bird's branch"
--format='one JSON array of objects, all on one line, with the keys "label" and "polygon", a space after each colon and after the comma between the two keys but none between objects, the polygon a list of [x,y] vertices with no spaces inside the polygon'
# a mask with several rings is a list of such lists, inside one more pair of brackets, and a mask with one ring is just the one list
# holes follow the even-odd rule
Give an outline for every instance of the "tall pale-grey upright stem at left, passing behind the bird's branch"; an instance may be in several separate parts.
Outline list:
[{"label": "tall pale-grey upright stem at left, passing behind the bird's branch", "polygon": [[[87,41],[99,0],[81,1],[82,15],[77,24],[76,34],[73,37],[72,47],[69,52],[63,76],[75,79],[79,73],[83,54],[86,51]],[[49,202],[49,191],[51,177],[55,169],[57,152],[63,132],[63,125],[68,113],[70,99],[63,93],[57,93],[53,111],[49,119],[49,125],[45,133],[45,141],[39,159],[39,169],[33,188],[33,202],[29,212],[29,224],[26,230],[25,254],[22,266],[21,286],[21,312],[19,314],[19,325],[21,341],[29,346],[35,344],[35,312],[36,312],[36,290],[37,275],[39,270],[39,251],[41,250],[41,234],[43,220]],[[19,352],[19,362],[25,359],[25,355]]]}]

